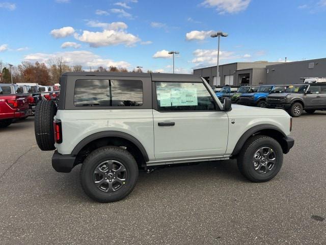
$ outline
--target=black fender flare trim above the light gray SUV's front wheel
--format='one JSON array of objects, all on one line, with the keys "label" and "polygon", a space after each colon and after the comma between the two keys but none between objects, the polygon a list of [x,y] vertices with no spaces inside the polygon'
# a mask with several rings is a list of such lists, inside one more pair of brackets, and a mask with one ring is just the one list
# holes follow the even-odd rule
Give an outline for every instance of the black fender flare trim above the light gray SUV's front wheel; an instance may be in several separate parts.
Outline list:
[{"label": "black fender flare trim above the light gray SUV's front wheel", "polygon": [[283,133],[283,131],[275,126],[275,125],[271,125],[271,124],[261,124],[261,125],[257,125],[252,127],[251,129],[247,130],[246,132],[244,132],[242,134],[242,136],[239,138],[238,142],[236,143],[234,150],[232,152],[232,156],[236,156],[239,154],[239,152],[242,149],[242,146],[244,145],[244,143],[246,143],[246,141],[254,134],[258,133],[259,131],[262,130],[275,130],[278,131],[279,133],[281,133],[283,135],[283,138],[287,138],[287,136]]}]

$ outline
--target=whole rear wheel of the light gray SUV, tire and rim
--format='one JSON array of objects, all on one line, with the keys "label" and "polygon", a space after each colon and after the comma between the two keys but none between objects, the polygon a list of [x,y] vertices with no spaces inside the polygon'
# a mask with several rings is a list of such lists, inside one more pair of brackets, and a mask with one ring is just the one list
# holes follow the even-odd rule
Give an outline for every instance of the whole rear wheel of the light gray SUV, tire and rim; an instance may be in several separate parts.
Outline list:
[{"label": "whole rear wheel of the light gray SUV, tire and rim", "polygon": [[133,190],[138,171],[138,165],[128,151],[117,146],[104,146],[85,159],[80,170],[80,182],[93,200],[116,202]]}]

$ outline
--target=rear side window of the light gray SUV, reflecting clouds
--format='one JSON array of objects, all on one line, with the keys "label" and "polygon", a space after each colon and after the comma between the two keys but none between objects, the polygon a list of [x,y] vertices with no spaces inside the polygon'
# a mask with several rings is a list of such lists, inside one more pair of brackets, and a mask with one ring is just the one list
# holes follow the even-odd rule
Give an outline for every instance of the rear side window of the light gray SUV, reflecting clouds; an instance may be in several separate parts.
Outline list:
[{"label": "rear side window of the light gray SUV, reflecting clouds", "polygon": [[76,80],[75,106],[142,106],[139,80]]}]

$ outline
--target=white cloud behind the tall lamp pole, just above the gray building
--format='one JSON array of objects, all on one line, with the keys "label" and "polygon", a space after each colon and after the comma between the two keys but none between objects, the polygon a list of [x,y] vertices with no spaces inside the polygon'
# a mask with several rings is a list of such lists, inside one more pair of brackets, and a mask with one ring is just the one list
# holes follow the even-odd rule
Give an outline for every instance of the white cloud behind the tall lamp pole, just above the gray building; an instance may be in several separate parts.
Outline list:
[{"label": "white cloud behind the tall lamp pole, just above the gray building", "polygon": [[[218,61],[218,50],[195,50],[193,55],[195,58],[192,63],[196,66],[215,65]],[[241,56],[235,55],[234,52],[220,51],[220,60],[239,59]]]}]

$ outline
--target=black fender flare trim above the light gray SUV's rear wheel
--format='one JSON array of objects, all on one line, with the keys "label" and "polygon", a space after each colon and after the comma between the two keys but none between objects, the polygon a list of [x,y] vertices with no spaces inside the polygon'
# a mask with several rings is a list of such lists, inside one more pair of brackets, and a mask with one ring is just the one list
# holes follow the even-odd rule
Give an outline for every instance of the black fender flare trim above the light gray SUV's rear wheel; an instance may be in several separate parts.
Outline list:
[{"label": "black fender flare trim above the light gray SUV's rear wheel", "polygon": [[126,139],[126,140],[132,142],[141,151],[141,153],[144,156],[145,161],[146,162],[149,161],[148,154],[147,154],[143,144],[141,142],[139,142],[138,139],[131,136],[130,134],[123,133],[123,132],[120,132],[120,131],[102,131],[102,132],[98,132],[98,133],[95,133],[95,134],[91,134],[91,135],[87,136],[86,138],[84,138],[83,140],[81,140],[75,146],[75,148],[71,152],[71,155],[77,155],[80,152],[80,150],[82,150],[84,148],[84,146],[87,145],[88,143],[90,143],[90,142],[92,142],[92,141],[94,141],[96,139],[106,138],[106,137],[123,138],[123,139]]}]

